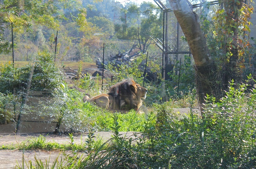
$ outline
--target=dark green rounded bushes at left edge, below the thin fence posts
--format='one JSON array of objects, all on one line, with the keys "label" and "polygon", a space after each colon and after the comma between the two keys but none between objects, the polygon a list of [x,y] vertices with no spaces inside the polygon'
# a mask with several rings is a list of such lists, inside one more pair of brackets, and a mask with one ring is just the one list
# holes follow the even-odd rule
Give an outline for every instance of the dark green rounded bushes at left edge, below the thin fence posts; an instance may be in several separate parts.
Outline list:
[{"label": "dark green rounded bushes at left edge, below the thin fence posts", "polygon": [[[32,70],[32,71],[31,71]],[[1,65],[0,92],[13,93],[13,90],[24,91],[28,88],[29,77],[32,76],[31,90],[56,92],[61,88],[63,77],[55,66],[50,53],[38,52],[33,66],[14,67],[10,62]]]}]

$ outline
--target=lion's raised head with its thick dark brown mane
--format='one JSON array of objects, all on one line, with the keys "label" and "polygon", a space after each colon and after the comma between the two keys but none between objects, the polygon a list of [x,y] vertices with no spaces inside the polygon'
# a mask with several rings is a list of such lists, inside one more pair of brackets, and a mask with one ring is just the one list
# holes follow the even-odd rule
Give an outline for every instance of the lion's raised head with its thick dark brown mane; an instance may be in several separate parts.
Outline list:
[{"label": "lion's raised head with its thick dark brown mane", "polygon": [[108,94],[113,96],[112,104],[115,104],[116,108],[123,109],[125,107],[128,110],[138,110],[142,99],[146,98],[147,91],[132,79],[126,79],[111,86]]}]

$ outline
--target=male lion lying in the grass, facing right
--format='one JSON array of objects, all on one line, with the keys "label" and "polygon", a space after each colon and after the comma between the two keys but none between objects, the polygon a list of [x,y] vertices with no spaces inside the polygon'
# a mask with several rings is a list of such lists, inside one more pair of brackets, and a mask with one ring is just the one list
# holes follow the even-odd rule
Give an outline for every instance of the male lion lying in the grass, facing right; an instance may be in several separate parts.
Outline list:
[{"label": "male lion lying in the grass, facing right", "polygon": [[142,100],[145,100],[147,89],[135,83],[132,79],[126,79],[110,87],[108,94],[100,94],[89,98],[84,96],[83,101],[96,104],[102,108],[113,110],[136,111],[140,108]]}]

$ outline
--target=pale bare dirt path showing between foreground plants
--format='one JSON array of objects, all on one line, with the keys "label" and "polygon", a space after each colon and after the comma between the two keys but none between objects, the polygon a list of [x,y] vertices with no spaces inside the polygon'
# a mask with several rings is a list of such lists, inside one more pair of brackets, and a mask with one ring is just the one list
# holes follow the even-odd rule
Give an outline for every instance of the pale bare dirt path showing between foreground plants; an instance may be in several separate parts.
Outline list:
[{"label": "pale bare dirt path showing between foreground plants", "polygon": [[[180,112],[188,113],[189,109],[173,109],[174,112]],[[198,109],[193,110],[195,113],[199,113]],[[8,130],[9,128],[9,130]],[[4,126],[0,125],[0,146],[6,146],[6,145],[12,145],[12,144],[20,144],[21,142],[24,142],[28,139],[31,139],[32,137],[38,137],[40,133],[37,134],[14,134],[13,131],[10,130],[11,126]],[[133,135],[133,132],[120,132],[120,134],[125,134],[126,137],[130,137]],[[68,135],[54,135],[54,134],[48,134],[42,133],[46,139],[46,142],[57,142],[57,143],[69,143],[69,137]],[[97,138],[102,138],[103,140],[108,140],[111,138],[112,132],[97,132],[95,133]],[[141,134],[138,134],[137,137],[142,136]],[[85,138],[87,137],[87,134],[77,134],[74,135],[74,142],[76,144],[82,144],[85,142]],[[133,136],[134,137],[134,136]],[[0,169],[11,169],[15,168],[15,165],[21,164],[23,155],[23,150],[0,150]],[[35,157],[37,159],[41,159],[43,162],[45,160],[49,160],[50,166],[55,158],[58,156],[62,156],[61,152],[58,151],[45,151],[45,150],[25,150],[24,151],[24,158],[28,162],[29,160],[32,161],[34,164]],[[26,167],[25,167],[26,168]]]}]

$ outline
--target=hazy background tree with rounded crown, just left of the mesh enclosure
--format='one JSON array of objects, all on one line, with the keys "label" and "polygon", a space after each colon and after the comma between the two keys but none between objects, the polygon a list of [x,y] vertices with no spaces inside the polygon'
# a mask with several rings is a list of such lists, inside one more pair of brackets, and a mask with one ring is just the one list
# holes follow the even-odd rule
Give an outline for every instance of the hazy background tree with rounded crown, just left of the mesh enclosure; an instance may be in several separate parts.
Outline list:
[{"label": "hazy background tree with rounded crown, just left of the mesh enclosure", "polygon": [[128,3],[123,9],[122,24],[116,24],[116,37],[118,39],[135,40],[135,48],[145,53],[154,41],[150,36],[160,38],[162,36],[162,19],[160,9],[149,2],[143,2],[138,6]]}]

